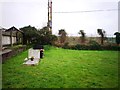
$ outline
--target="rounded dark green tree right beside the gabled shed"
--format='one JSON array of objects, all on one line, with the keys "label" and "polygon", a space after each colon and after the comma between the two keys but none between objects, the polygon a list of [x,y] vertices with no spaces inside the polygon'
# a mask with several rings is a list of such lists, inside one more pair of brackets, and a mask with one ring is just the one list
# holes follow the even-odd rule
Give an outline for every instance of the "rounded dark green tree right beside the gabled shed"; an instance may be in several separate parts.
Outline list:
[{"label": "rounded dark green tree right beside the gabled shed", "polygon": [[29,26],[20,28],[20,30],[23,31],[24,44],[30,44],[30,43],[36,42],[39,34],[35,27],[32,27],[29,25]]}]

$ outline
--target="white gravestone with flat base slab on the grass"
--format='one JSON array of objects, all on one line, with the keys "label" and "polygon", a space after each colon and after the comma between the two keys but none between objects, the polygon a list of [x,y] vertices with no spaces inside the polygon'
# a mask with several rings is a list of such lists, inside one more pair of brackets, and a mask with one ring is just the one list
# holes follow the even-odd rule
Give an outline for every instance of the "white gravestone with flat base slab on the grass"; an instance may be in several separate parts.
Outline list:
[{"label": "white gravestone with flat base slab on the grass", "polygon": [[[31,57],[34,57],[33,61],[30,60]],[[25,65],[38,65],[40,60],[40,50],[39,49],[29,49],[28,58],[25,58]]]}]

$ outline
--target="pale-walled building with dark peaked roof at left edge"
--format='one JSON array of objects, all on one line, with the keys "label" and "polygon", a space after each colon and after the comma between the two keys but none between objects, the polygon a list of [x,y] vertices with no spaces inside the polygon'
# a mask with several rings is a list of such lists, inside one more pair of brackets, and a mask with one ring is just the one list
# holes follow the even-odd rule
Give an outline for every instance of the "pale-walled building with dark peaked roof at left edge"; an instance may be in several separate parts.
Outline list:
[{"label": "pale-walled building with dark peaked roof at left edge", "polygon": [[2,38],[2,45],[13,45],[22,43],[22,31],[17,29],[16,27],[11,27],[9,29],[5,29],[0,27],[1,30],[1,38]]}]

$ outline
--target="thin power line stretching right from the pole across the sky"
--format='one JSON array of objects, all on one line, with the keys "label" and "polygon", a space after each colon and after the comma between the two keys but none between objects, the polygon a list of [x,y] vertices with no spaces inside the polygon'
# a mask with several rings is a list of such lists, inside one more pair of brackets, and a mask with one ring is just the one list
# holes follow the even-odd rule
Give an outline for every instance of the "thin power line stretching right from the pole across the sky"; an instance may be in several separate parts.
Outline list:
[{"label": "thin power line stretching right from the pole across the sky", "polygon": [[70,11],[70,12],[53,12],[53,13],[86,13],[86,12],[103,12],[103,11],[119,11],[119,9],[86,10],[86,11]]}]

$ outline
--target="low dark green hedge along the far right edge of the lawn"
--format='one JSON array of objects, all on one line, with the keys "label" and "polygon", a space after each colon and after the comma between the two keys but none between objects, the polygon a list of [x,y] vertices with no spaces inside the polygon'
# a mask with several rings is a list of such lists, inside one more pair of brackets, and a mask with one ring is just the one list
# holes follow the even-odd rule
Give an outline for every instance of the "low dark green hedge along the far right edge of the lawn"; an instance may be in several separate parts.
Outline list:
[{"label": "low dark green hedge along the far right edge of the lawn", "polygon": [[64,45],[61,44],[56,44],[55,46],[57,47],[62,47],[64,49],[73,49],[73,50],[114,50],[114,51],[120,51],[120,46],[115,46],[115,45],[100,45],[96,41],[92,40],[89,42],[88,45],[69,45],[68,42],[66,42]]}]

